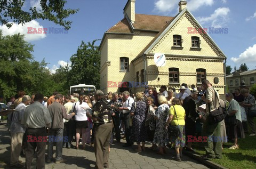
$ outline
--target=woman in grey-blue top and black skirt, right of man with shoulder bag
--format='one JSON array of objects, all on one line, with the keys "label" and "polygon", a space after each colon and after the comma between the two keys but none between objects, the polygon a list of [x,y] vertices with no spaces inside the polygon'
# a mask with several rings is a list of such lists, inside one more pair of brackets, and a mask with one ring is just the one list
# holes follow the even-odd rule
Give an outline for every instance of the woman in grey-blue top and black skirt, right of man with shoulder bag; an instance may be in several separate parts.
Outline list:
[{"label": "woman in grey-blue top and black skirt, right of man with shoulder bag", "polygon": [[241,109],[239,103],[234,99],[233,94],[227,93],[226,100],[229,102],[228,114],[229,116],[235,116],[235,123],[230,124],[229,127],[229,139],[234,139],[234,145],[229,149],[238,149],[237,138],[245,138],[244,129],[241,118]]}]

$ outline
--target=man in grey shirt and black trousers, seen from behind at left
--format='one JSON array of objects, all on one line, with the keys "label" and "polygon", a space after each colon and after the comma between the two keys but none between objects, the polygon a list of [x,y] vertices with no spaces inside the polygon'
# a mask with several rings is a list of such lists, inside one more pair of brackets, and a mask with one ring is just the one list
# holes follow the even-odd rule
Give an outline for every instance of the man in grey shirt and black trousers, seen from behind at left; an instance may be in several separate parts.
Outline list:
[{"label": "man in grey shirt and black trousers, seen from behind at left", "polygon": [[[31,167],[35,149],[37,149],[37,168],[45,167],[45,147],[46,142],[42,138],[46,138],[46,126],[52,122],[50,113],[46,107],[42,105],[44,96],[37,93],[34,98],[34,103],[25,109],[25,117],[22,119],[22,124],[27,126],[28,140],[26,143],[26,168]],[[39,141],[41,140],[41,141]]]}]

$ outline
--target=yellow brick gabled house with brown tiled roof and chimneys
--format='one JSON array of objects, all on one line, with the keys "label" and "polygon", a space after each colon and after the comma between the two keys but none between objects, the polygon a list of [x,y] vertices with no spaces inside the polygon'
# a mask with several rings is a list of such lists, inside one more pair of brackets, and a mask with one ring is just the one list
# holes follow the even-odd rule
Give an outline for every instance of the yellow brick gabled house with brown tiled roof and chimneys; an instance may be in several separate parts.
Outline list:
[{"label": "yellow brick gabled house with brown tiled roof and chimneys", "polygon": [[[143,91],[143,82],[157,89],[161,85],[179,88],[182,83],[199,86],[205,78],[220,94],[225,92],[226,57],[209,34],[200,31],[202,26],[186,5],[181,0],[179,13],[164,17],[136,14],[135,0],[127,1],[124,19],[105,32],[100,44],[104,93]],[[165,55],[165,66],[155,65],[155,53]]]}]

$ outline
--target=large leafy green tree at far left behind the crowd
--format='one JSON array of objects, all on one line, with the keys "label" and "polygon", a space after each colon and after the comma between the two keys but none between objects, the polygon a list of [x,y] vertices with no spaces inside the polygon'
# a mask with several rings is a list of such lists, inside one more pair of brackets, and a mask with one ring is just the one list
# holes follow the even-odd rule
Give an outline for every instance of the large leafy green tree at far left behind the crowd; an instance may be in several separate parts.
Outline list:
[{"label": "large leafy green tree at far left behind the crowd", "polygon": [[5,98],[23,90],[31,95],[41,92],[51,95],[55,88],[47,63],[35,61],[33,45],[24,41],[24,35],[2,36],[0,31],[0,94]]}]

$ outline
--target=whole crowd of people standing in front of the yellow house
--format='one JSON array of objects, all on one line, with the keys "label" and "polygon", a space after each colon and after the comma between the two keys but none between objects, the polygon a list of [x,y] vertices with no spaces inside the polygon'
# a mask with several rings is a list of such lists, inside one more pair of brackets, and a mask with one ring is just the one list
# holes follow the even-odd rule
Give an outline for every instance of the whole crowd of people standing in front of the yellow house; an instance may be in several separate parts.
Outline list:
[{"label": "whole crowd of people standing in front of the yellow house", "polygon": [[[157,154],[166,154],[166,146],[175,149],[174,160],[182,160],[182,150],[194,151],[193,142],[200,136],[206,154],[204,159],[221,158],[222,143],[233,141],[230,149],[238,149],[238,138],[245,138],[251,128],[250,136],[255,136],[253,117],[256,114],[255,98],[249,88],[237,88],[235,93],[226,93],[226,102],[220,99],[218,91],[206,79],[202,86],[191,89],[182,84],[179,93],[175,88],[145,86],[145,91],[130,94],[104,94],[97,90],[94,94],[73,93],[63,96],[54,92],[47,98],[41,93],[26,95],[19,91],[16,99],[7,103],[14,108],[9,115],[11,132],[10,165],[23,167],[19,155],[24,147],[26,168],[30,168],[34,151],[37,151],[37,168],[45,165],[46,141],[48,138],[46,163],[53,161],[53,146],[56,146],[55,163],[65,163],[62,148],[79,149],[79,143],[94,145],[95,168],[108,167],[110,144],[121,142],[121,133],[126,143],[123,147],[137,144],[135,151],[145,151],[145,142]],[[227,108],[228,116],[219,123],[212,123],[210,112],[218,107]],[[226,123],[225,123],[226,122]],[[179,130],[178,135],[170,135],[169,126]],[[31,136],[30,141],[28,140]],[[54,136],[54,141],[50,141]],[[82,136],[82,140],[81,140]],[[41,141],[39,140],[41,138]],[[63,139],[67,138],[67,140]],[[214,139],[213,139],[214,138]],[[215,139],[217,138],[217,139]],[[228,138],[228,139],[227,139]],[[64,141],[65,140],[65,141]],[[73,146],[73,141],[75,145]]]}]

